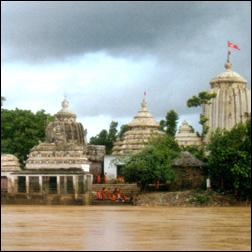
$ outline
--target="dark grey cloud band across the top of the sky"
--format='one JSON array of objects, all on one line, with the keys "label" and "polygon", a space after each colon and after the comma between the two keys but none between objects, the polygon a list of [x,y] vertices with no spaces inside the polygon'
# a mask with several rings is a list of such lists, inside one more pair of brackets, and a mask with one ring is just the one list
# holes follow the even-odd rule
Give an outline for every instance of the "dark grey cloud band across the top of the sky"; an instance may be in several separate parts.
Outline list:
[{"label": "dark grey cloud band across the top of the sky", "polygon": [[249,15],[247,8],[237,2],[6,1],[3,53],[9,60],[62,60],[99,50],[155,54],[160,43],[174,52],[220,18]]}]

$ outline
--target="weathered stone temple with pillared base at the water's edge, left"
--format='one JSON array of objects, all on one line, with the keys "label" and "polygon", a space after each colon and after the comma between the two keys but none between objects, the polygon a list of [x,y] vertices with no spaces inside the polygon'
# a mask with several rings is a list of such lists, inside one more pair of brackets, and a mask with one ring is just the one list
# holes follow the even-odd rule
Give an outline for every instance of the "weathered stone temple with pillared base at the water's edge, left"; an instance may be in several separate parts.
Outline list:
[{"label": "weathered stone temple with pillared base at the water's edge, left", "polygon": [[[87,130],[76,122],[76,115],[68,107],[64,99],[62,109],[45,129],[45,141],[31,149],[25,169],[18,169],[17,164],[14,170],[4,168],[9,172],[5,186],[9,196],[55,203],[86,199],[84,195],[93,180],[91,165],[94,162],[93,168],[103,166],[105,147],[87,145]],[[5,166],[7,158],[3,157]],[[15,160],[12,157],[12,163]]]}]

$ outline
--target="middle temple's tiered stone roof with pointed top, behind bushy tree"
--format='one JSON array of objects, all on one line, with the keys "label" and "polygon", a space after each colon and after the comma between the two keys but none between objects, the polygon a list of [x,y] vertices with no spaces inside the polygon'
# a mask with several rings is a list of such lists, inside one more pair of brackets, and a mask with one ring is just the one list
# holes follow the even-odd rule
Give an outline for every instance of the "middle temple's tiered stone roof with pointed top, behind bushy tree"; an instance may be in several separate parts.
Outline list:
[{"label": "middle temple's tiered stone roof with pointed top, behind bushy tree", "polygon": [[163,134],[159,130],[159,124],[147,109],[145,97],[140,110],[128,124],[128,127],[129,130],[124,132],[122,137],[114,143],[112,155],[121,156],[139,152],[153,136]]}]

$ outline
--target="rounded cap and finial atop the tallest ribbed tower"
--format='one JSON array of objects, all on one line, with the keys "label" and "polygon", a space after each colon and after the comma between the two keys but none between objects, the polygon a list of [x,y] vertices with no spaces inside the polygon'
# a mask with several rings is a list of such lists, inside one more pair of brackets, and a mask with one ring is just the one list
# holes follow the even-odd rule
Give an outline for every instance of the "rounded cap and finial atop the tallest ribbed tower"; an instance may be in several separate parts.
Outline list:
[{"label": "rounded cap and finial atop the tallest ribbed tower", "polygon": [[247,83],[246,79],[243,78],[240,74],[236,73],[232,70],[232,64],[230,62],[227,62],[225,64],[226,70],[220,74],[218,74],[216,77],[214,77],[210,83],[220,83],[220,82],[241,82],[241,83]]}]

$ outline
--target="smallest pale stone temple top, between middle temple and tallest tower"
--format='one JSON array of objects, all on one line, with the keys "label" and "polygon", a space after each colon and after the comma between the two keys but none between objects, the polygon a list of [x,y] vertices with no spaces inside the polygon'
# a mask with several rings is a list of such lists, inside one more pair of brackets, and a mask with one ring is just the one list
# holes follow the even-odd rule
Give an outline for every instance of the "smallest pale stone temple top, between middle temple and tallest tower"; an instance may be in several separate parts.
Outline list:
[{"label": "smallest pale stone temple top, between middle temple and tallest tower", "polygon": [[201,145],[201,138],[193,132],[192,127],[183,121],[175,136],[179,146]]}]

